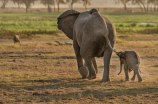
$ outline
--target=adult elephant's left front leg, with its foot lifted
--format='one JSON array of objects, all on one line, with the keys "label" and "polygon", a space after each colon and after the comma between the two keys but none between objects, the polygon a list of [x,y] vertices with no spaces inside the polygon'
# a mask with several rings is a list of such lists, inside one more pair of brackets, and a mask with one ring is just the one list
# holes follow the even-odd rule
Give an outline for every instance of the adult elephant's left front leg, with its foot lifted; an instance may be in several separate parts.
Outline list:
[{"label": "adult elephant's left front leg, with its foot lifted", "polygon": [[74,51],[76,54],[76,59],[77,59],[77,64],[78,64],[78,71],[80,72],[82,78],[87,78],[88,77],[88,69],[83,65],[83,58],[80,54],[80,47],[77,44],[75,40],[73,40],[73,47]]}]

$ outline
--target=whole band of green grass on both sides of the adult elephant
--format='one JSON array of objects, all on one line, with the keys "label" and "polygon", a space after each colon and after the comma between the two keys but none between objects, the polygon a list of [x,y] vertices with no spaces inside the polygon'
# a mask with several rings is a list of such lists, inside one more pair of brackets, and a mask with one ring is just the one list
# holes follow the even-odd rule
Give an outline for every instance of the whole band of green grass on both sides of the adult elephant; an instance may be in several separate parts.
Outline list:
[{"label": "whole band of green grass on both sides of the adult elephant", "polygon": [[[14,32],[29,32],[34,31],[35,34],[52,33],[58,31],[57,17],[61,13],[8,13],[1,14],[0,17],[0,31],[14,31]],[[148,29],[150,33],[157,33],[158,15],[157,14],[105,14],[115,25],[117,32],[139,32],[146,33]],[[146,23],[146,24],[143,24]],[[151,24],[154,23],[154,24]],[[37,32],[39,31],[39,32]],[[50,32],[51,31],[51,32]],[[144,31],[144,32],[143,32]]]}]

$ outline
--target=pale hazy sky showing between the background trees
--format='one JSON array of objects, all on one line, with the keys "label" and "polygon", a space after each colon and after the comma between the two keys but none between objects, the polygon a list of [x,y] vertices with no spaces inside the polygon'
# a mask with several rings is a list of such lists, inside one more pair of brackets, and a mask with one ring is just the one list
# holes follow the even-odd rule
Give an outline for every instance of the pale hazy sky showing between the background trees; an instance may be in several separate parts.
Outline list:
[{"label": "pale hazy sky showing between the background trees", "polygon": [[[40,0],[39,0],[40,1]],[[32,6],[32,8],[46,8],[46,6],[40,4],[38,2],[35,3],[35,5]],[[88,8],[109,8],[109,7],[122,7],[123,8],[123,5],[120,3],[120,4],[115,4],[114,1],[116,0],[91,0],[91,5],[88,6]],[[129,5],[130,6],[130,5]],[[13,2],[9,2],[6,7],[17,7],[17,4],[14,4]],[[24,5],[21,5],[21,7],[24,7]],[[61,8],[68,8],[68,5],[65,4],[65,5],[60,5]],[[82,8],[83,7],[83,4],[74,4],[73,6],[74,8]],[[132,6],[130,6],[132,7]]]}]

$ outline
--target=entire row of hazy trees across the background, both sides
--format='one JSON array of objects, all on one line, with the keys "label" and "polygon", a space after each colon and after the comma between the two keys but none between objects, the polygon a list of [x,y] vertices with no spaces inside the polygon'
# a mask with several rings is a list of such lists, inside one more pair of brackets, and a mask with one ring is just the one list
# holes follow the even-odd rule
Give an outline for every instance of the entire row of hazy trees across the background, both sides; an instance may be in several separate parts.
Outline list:
[{"label": "entire row of hazy trees across the background, both sides", "polygon": [[[60,10],[60,4],[67,4],[69,9],[73,9],[73,5],[75,3],[82,3],[85,10],[87,10],[87,6],[91,5],[92,0],[0,0],[1,9],[4,9],[6,4],[11,1],[14,4],[18,5],[20,8],[21,4],[25,5],[26,13],[28,13],[28,9],[35,4],[36,1],[40,1],[41,4],[47,7],[48,12],[52,12],[52,6],[54,11],[57,6],[57,11]],[[103,0],[103,3],[108,2],[108,0]],[[117,4],[122,4],[124,10],[127,10],[127,6],[137,5],[140,7],[141,11],[158,11],[158,0],[113,0],[113,2]]]}]

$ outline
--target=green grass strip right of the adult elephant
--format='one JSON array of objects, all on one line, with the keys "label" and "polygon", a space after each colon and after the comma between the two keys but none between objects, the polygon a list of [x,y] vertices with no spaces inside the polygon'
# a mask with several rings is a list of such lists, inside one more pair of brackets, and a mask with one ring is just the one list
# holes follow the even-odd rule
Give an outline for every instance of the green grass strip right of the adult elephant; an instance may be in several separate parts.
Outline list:
[{"label": "green grass strip right of the adult elephant", "polygon": [[[157,14],[103,14],[111,19],[117,29],[144,30],[155,29],[158,25]],[[146,24],[143,24],[146,23]],[[150,24],[154,23],[154,24]],[[135,24],[135,26],[133,26]]]}]

